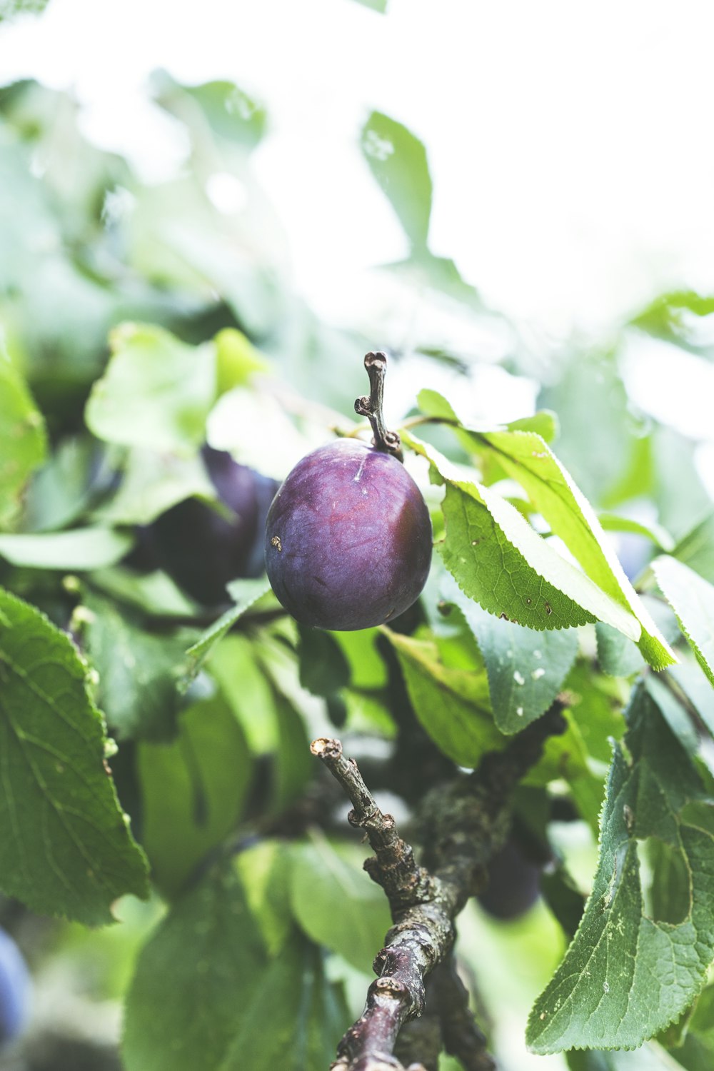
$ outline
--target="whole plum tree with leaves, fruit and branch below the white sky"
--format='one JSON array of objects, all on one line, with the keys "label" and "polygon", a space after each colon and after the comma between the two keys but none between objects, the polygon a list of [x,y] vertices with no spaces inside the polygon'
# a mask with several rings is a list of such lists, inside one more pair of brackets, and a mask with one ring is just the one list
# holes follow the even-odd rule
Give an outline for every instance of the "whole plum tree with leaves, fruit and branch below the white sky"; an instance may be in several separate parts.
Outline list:
[{"label": "whole plum tree with leaves, fruit and branch below the white sky", "polygon": [[0,91],[0,921],[39,986],[86,942],[126,1071],[507,1071],[516,1034],[711,1067],[714,512],[619,353],[712,360],[712,299],[533,362],[430,252],[426,148],[375,112],[394,292],[548,368],[538,411],[477,424],[477,351],[290,293],[260,102],[152,92],[197,175],[244,181],[230,241],[201,183],[145,186],[66,119],[70,164],[62,99]]}]

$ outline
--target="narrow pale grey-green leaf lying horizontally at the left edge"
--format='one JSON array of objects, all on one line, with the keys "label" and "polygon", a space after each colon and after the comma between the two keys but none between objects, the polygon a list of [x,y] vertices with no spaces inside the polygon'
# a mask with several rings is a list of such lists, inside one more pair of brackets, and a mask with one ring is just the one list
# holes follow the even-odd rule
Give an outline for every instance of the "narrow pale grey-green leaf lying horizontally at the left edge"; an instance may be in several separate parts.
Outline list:
[{"label": "narrow pale grey-green leaf lying horizontally at the left edge", "polygon": [[116,564],[128,553],[133,543],[133,536],[100,527],[32,536],[0,536],[0,557],[13,565],[85,572]]}]

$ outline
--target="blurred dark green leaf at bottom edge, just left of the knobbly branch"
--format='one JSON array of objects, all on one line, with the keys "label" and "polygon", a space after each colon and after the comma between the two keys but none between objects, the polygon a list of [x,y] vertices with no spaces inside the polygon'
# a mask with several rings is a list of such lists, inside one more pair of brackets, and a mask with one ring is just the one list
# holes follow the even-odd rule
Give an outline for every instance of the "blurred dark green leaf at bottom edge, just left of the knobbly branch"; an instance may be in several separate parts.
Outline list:
[{"label": "blurred dark green leaf at bottom edge, just left of the knobbly branch", "polygon": [[341,989],[325,977],[319,950],[295,937],[253,981],[252,997],[237,1016],[237,1030],[218,1071],[330,1067],[351,1016]]}]

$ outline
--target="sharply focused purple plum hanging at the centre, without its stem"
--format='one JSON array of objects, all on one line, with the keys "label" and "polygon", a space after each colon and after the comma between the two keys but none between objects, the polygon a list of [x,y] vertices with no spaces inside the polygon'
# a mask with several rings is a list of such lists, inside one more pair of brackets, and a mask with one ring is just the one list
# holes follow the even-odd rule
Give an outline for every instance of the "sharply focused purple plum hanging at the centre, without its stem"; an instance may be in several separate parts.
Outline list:
[{"label": "sharply focused purple plum hanging at the centre, without its stem", "polygon": [[383,624],[419,599],[430,564],[422,493],[396,457],[358,439],[303,457],[268,512],[268,578],[302,624]]}]

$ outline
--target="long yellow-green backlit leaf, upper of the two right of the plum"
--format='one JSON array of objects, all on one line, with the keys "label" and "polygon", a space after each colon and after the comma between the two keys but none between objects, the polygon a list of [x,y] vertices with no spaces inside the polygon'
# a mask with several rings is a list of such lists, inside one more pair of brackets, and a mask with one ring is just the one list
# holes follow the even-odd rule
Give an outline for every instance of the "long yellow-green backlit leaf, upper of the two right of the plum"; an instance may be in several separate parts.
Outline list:
[{"label": "long yellow-green backlit leaf, upper of the two right of the plum", "polygon": [[[648,662],[656,669],[675,662],[669,645],[625,576],[595,511],[548,443],[535,432],[460,431],[461,436],[466,431],[473,449],[486,448],[495,453],[504,472],[520,483],[552,533],[562,539],[587,575],[614,603],[637,618],[641,636],[631,635],[631,638],[639,640]],[[604,620],[599,614],[596,616]]]}]

